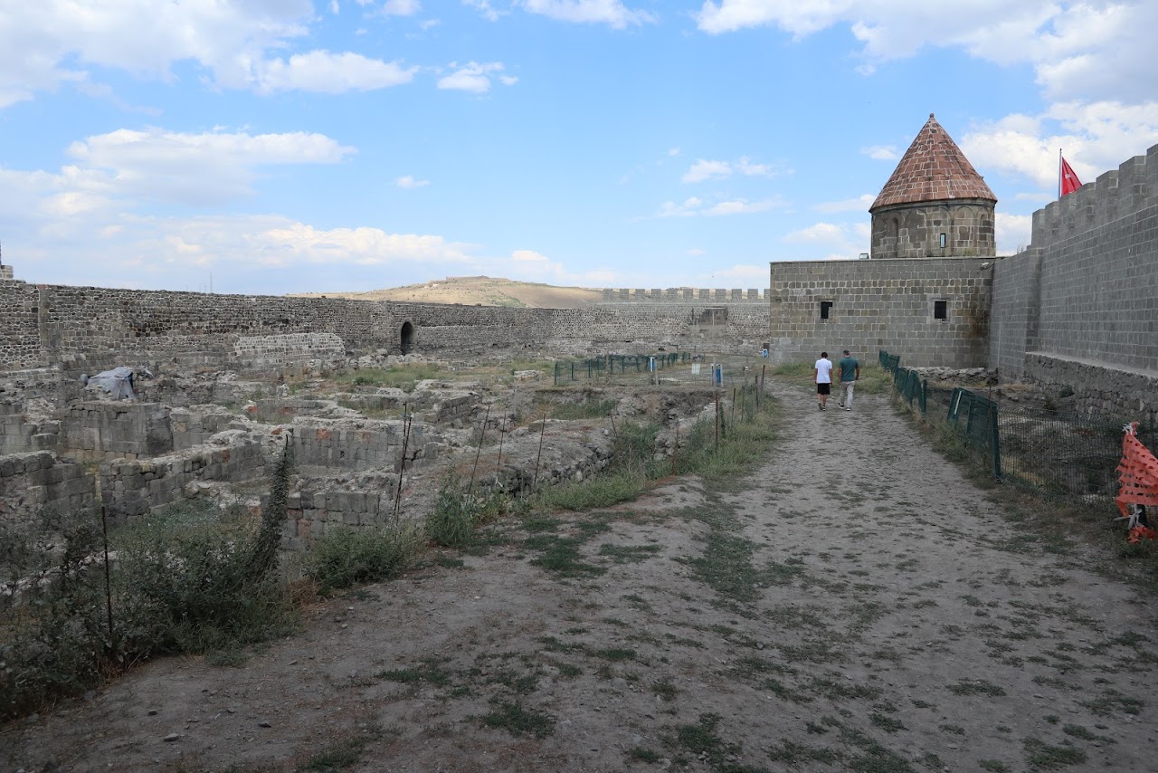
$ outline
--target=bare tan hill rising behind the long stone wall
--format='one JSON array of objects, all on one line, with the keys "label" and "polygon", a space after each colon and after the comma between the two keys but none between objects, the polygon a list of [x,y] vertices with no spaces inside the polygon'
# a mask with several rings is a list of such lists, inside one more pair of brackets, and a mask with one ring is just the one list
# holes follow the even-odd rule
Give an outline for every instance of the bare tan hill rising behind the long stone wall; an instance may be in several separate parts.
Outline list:
[{"label": "bare tan hill rising behind the long stone wall", "polygon": [[424,284],[366,292],[291,293],[294,298],[350,298],[352,300],[398,300],[416,304],[464,304],[507,308],[586,308],[603,300],[603,291],[592,287],[556,287],[532,282],[492,277],[447,277]]}]

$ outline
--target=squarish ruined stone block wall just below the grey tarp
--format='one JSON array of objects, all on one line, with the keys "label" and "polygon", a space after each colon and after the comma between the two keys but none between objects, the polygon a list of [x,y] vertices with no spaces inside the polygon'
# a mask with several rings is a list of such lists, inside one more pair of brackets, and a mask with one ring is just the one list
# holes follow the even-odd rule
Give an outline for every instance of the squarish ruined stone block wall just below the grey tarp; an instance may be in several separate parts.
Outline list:
[{"label": "squarish ruined stone block wall just below the grey tarp", "polygon": [[174,450],[169,408],[157,403],[75,403],[60,422],[61,453],[85,461],[140,459]]}]

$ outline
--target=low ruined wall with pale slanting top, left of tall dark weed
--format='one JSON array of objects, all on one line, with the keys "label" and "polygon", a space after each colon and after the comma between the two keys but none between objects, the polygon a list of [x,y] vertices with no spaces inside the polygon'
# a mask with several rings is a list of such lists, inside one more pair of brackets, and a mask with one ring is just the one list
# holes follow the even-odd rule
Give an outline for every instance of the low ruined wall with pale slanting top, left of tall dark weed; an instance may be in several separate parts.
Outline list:
[{"label": "low ruined wall with pale slanting top, left of tall dark weed", "polygon": [[245,438],[223,447],[201,445],[156,459],[102,464],[101,496],[110,523],[123,525],[156,508],[197,496],[190,483],[240,483],[266,477],[269,472],[262,444]]}]

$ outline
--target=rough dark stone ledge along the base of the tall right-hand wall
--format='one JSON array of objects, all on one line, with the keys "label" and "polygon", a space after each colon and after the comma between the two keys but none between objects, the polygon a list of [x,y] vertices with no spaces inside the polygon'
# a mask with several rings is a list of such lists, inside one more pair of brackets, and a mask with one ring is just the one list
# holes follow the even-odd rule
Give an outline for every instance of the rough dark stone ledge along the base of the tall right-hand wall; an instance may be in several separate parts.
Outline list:
[{"label": "rough dark stone ledge along the base of the tall right-hand wall", "polygon": [[1041,352],[1027,352],[1024,379],[1040,387],[1073,391],[1079,413],[1143,423],[1158,420],[1158,373]]}]

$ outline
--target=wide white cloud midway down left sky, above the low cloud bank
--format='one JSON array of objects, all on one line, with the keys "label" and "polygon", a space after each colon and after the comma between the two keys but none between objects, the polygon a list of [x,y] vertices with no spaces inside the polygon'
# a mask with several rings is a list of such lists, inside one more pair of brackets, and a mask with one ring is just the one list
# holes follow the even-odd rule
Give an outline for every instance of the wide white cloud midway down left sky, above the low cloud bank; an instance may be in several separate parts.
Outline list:
[{"label": "wide white cloud midway down left sky, above the low cloud bank", "polygon": [[324,134],[306,132],[186,134],[120,129],[73,143],[67,153],[76,166],[61,172],[60,184],[75,192],[210,205],[250,194],[257,167],[338,163],[354,152]]}]

